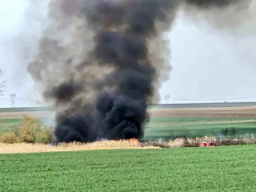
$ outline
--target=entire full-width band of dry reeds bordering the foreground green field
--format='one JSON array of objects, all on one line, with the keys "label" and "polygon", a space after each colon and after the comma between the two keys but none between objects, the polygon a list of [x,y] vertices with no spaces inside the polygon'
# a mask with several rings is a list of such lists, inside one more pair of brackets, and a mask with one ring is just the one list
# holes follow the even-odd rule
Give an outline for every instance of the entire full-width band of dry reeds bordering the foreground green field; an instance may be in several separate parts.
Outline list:
[{"label": "entire full-width band of dry reeds bordering the foreground green field", "polygon": [[96,141],[93,143],[60,143],[59,145],[46,145],[41,143],[0,143],[0,153],[30,153],[30,152],[57,152],[57,151],[84,151],[102,149],[159,149],[175,147],[198,147],[199,142],[214,141],[216,146],[221,145],[250,145],[256,144],[256,136],[245,134],[235,137],[204,136],[196,138],[178,138],[169,141],[158,139],[137,143],[136,141]]}]

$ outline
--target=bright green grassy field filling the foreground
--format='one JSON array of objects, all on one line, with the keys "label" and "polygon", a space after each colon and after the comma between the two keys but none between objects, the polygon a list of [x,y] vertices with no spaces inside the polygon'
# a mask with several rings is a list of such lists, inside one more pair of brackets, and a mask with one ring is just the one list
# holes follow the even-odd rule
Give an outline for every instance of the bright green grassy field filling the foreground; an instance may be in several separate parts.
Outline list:
[{"label": "bright green grassy field filling the foreground", "polygon": [[256,191],[256,145],[0,155],[0,192]]}]

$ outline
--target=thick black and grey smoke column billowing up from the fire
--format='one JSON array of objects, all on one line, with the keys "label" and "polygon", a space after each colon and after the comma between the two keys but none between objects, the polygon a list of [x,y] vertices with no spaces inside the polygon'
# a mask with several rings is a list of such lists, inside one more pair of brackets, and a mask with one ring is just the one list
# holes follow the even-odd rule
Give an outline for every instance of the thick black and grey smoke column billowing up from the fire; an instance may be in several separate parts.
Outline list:
[{"label": "thick black and grey smoke column billowing up from the fire", "polygon": [[182,4],[207,9],[232,3],[219,2],[52,1],[53,24],[28,71],[45,99],[54,101],[55,142],[141,138],[147,105],[156,102],[171,69],[164,33],[176,11]]}]

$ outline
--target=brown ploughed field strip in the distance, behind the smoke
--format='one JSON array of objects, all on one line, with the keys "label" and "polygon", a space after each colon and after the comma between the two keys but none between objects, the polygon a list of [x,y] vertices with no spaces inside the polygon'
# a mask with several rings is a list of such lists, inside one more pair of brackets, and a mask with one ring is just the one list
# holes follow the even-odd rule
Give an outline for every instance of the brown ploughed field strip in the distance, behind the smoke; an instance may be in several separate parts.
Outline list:
[{"label": "brown ploughed field strip in the distance, behind the smoke", "polygon": [[[2,112],[0,119],[20,119],[23,114],[29,117],[53,117],[48,111]],[[182,109],[149,109],[151,117],[256,117],[256,106],[248,107],[205,107]]]}]

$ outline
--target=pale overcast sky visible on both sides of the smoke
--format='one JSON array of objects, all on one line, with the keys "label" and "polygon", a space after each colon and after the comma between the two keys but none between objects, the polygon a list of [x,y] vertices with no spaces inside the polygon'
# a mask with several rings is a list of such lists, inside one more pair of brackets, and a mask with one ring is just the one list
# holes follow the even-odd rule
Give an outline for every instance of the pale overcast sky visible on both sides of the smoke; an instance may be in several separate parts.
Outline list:
[{"label": "pale overcast sky visible on both sides of the smoke", "polygon": [[[27,14],[29,0],[0,2],[0,68],[7,81],[5,96],[0,97],[1,108],[11,107],[11,92],[15,92],[17,98],[40,100],[40,94],[26,72],[26,64],[18,55],[18,49],[26,42],[31,46],[36,45],[31,42],[38,37],[31,37],[30,31],[40,31],[40,24],[33,23],[35,13],[33,17]],[[36,13],[40,15],[45,9],[42,3],[38,7],[41,9]],[[31,22],[33,24],[29,25]],[[170,64],[173,70],[169,81],[160,88],[162,98],[169,94],[171,98],[198,100],[169,100],[170,103],[192,103],[256,97],[255,26],[249,23],[246,28],[233,30],[236,32],[233,34],[225,30],[210,29],[206,24],[192,23],[185,17],[179,17],[169,34]],[[33,34],[39,35],[35,32]],[[256,98],[229,100],[231,101],[256,101]],[[165,103],[164,100],[161,102]],[[16,100],[15,103],[16,107],[35,105],[35,102],[24,100]]]}]

